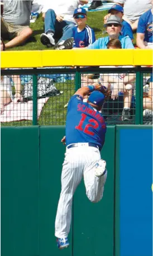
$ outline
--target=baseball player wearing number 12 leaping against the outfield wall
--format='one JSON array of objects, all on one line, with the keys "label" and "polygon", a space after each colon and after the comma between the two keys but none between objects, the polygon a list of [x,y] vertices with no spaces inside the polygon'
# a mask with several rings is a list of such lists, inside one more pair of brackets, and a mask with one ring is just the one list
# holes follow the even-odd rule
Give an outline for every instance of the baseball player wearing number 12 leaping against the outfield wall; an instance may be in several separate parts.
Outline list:
[{"label": "baseball player wearing number 12 leaping against the outfield wall", "polygon": [[[107,178],[106,162],[100,151],[104,145],[106,123],[101,114],[105,95],[101,83],[78,89],[70,98],[66,116],[66,153],[61,173],[61,193],[55,220],[58,248],[69,246],[71,205],[76,187],[84,176],[87,197],[102,199]],[[90,94],[88,102],[83,97]],[[107,93],[106,93],[107,94]]]}]

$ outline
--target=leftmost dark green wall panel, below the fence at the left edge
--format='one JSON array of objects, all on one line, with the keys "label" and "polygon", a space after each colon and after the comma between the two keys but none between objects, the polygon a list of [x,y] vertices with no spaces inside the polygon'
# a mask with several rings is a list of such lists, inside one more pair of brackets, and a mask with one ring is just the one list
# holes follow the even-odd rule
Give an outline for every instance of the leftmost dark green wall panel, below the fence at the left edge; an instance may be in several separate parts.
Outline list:
[{"label": "leftmost dark green wall panel, below the fence at the left edge", "polygon": [[39,127],[1,129],[1,255],[39,255]]}]

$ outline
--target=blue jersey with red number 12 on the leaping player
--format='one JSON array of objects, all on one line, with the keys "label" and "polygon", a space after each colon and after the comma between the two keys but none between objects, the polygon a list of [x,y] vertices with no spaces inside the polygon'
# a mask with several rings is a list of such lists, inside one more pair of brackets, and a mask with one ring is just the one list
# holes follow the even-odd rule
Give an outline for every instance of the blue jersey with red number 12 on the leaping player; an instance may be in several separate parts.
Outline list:
[{"label": "blue jersey with red number 12 on the leaping player", "polygon": [[99,111],[95,110],[83,98],[74,95],[68,103],[66,116],[66,146],[73,143],[94,143],[102,149],[106,123]]}]

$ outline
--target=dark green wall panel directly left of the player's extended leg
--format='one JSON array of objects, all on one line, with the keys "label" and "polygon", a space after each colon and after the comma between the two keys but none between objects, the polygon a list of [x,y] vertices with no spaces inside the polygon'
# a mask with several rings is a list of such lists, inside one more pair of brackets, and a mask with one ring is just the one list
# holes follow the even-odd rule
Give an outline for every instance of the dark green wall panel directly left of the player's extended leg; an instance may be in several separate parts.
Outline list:
[{"label": "dark green wall panel directly left of the player's extended leg", "polygon": [[[65,152],[60,141],[64,135],[64,126],[40,127],[40,256],[61,255],[54,232]],[[71,234],[69,239],[70,247],[63,250],[63,256],[71,255]]]}]

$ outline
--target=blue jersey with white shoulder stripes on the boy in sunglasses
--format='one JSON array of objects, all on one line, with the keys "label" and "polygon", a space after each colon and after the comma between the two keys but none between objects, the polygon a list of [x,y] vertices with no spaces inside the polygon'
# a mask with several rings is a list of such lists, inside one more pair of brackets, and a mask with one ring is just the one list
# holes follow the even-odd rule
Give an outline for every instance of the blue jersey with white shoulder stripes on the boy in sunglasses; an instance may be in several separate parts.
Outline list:
[{"label": "blue jersey with white shoulder stripes on the boy in sunglasses", "polygon": [[73,27],[73,37],[73,48],[87,47],[88,45],[93,44],[93,42],[95,41],[94,31],[93,29],[91,29],[91,27],[87,25],[80,32],[78,32],[78,25],[75,25]]}]

